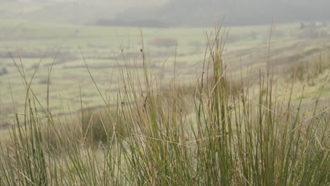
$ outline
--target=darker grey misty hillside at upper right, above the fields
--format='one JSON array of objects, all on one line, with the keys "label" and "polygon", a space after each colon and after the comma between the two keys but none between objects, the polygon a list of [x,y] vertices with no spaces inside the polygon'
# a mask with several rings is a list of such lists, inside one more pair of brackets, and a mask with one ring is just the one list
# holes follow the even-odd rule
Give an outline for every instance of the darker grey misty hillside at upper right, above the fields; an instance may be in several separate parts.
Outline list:
[{"label": "darker grey misty hillside at upper right, above the fields", "polygon": [[119,13],[111,25],[212,26],[226,16],[232,25],[259,25],[329,20],[330,1],[325,0],[181,0],[169,1],[158,10],[141,13],[131,8]]}]

